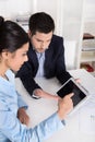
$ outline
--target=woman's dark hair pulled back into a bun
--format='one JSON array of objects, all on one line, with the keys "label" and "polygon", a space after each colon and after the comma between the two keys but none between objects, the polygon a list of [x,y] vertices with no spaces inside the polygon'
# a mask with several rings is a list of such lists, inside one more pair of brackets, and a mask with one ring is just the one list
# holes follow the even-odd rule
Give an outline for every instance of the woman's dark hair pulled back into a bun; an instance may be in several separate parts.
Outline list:
[{"label": "woman's dark hair pulled back into a bun", "polygon": [[13,52],[27,42],[28,35],[20,25],[0,16],[0,54],[3,49]]}]

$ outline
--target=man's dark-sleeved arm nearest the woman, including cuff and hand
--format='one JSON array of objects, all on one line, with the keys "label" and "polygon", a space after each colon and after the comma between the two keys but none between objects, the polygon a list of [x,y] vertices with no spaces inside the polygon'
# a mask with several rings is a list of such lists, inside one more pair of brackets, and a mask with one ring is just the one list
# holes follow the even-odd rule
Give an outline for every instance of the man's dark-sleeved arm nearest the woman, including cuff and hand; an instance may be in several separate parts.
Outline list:
[{"label": "man's dark-sleeved arm nearest the woman, including cuff and hand", "polygon": [[27,90],[27,92],[36,99],[40,97],[45,97],[45,98],[52,98],[52,99],[58,100],[58,96],[51,95],[43,91],[40,86],[36,84],[36,82],[33,79],[31,66],[29,64],[27,66],[27,64],[28,62],[24,64],[23,68],[21,68],[21,70],[16,74],[16,76],[21,78],[23,85]]}]

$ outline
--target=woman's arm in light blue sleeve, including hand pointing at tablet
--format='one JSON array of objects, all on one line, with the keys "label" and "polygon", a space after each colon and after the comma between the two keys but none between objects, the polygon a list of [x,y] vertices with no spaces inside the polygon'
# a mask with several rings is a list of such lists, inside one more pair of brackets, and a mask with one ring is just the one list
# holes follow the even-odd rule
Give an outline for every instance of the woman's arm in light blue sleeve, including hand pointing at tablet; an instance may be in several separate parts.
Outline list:
[{"label": "woman's arm in light blue sleeve, including hand pointing at tablet", "polygon": [[0,129],[1,132],[10,140],[15,142],[41,142],[46,140],[55,132],[63,128],[62,119],[66,118],[67,114],[72,108],[71,95],[66,96],[59,102],[58,111],[51,115],[49,118],[40,122],[35,128],[27,129],[16,118],[12,110],[7,109],[4,104],[0,111]]}]

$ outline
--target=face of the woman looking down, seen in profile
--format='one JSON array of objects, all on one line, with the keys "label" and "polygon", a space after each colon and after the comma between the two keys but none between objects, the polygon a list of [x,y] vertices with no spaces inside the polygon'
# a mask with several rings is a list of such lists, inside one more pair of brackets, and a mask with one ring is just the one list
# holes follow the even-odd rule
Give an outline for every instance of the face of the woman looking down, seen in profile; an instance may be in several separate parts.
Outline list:
[{"label": "face of the woman looking down, seen in profile", "polygon": [[14,52],[8,51],[5,59],[5,67],[13,71],[19,71],[22,64],[27,61],[28,43],[24,44],[20,49]]}]

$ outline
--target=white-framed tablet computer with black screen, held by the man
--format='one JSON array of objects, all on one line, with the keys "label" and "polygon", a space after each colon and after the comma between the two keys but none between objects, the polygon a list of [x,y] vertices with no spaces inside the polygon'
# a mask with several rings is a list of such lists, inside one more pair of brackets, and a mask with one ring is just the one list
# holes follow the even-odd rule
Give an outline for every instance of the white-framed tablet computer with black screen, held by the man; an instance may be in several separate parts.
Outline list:
[{"label": "white-framed tablet computer with black screen, held by the man", "polygon": [[73,78],[69,79],[58,91],[57,94],[60,97],[64,97],[66,95],[74,93],[72,96],[73,102],[73,110],[75,111],[80,106],[82,106],[91,96],[90,93],[79,83],[74,81]]}]

